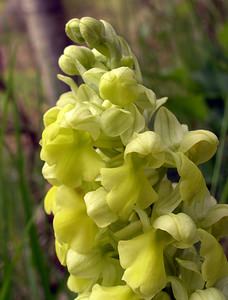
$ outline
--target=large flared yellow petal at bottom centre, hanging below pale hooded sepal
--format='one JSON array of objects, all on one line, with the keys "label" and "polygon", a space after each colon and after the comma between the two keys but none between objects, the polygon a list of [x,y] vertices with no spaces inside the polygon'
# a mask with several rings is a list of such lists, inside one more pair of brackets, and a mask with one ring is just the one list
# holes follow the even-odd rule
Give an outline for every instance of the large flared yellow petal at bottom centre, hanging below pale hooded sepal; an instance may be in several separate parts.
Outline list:
[{"label": "large flared yellow petal at bottom centre, hanging below pale hooded sepal", "polygon": [[166,285],[163,259],[166,243],[166,238],[150,230],[118,244],[120,264],[126,269],[123,280],[142,297],[154,297]]}]

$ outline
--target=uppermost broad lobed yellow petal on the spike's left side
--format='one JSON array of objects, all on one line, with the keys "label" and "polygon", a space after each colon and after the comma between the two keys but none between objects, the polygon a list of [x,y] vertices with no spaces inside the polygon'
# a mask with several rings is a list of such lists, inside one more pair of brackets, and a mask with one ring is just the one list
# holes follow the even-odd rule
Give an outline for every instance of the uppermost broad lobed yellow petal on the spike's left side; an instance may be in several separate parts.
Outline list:
[{"label": "uppermost broad lobed yellow petal on the spike's left side", "polygon": [[93,149],[89,134],[51,126],[43,132],[41,158],[55,165],[57,180],[71,187],[79,186],[82,180],[94,180],[104,163]]}]

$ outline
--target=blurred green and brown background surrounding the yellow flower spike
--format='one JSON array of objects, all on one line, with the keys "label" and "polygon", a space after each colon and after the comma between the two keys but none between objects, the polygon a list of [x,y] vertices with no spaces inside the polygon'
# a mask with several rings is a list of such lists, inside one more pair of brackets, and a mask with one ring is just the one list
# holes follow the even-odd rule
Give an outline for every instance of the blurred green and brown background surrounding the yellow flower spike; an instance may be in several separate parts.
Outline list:
[{"label": "blurred green and brown background surrounding the yellow flower spike", "polygon": [[93,16],[113,24],[136,53],[145,85],[191,129],[212,130],[217,156],[202,167],[228,202],[228,1],[0,0],[0,299],[73,299],[58,263],[41,175],[42,114],[65,87],[58,56],[64,24]]}]

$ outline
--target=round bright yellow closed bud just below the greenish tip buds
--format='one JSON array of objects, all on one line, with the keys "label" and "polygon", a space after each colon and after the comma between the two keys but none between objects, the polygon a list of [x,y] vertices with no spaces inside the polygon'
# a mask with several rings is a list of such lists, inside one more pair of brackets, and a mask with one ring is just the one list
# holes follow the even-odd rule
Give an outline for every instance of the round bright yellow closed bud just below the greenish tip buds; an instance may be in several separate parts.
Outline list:
[{"label": "round bright yellow closed bud just below the greenish tip buds", "polygon": [[135,73],[128,67],[120,67],[105,73],[101,77],[99,90],[103,99],[123,107],[136,101],[139,95]]}]

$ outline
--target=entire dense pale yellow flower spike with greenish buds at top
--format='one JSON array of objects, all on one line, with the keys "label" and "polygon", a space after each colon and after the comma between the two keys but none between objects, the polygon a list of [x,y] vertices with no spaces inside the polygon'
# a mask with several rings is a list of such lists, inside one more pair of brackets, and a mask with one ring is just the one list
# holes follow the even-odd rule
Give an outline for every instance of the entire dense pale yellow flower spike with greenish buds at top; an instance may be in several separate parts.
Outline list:
[{"label": "entire dense pale yellow flower spike with greenish buds at top", "polygon": [[228,206],[199,169],[216,136],[163,107],[110,24],[73,19],[66,33],[88,47],[68,46],[60,68],[83,83],[59,75],[70,91],[44,115],[41,159],[69,289],[80,300],[228,299]]}]

